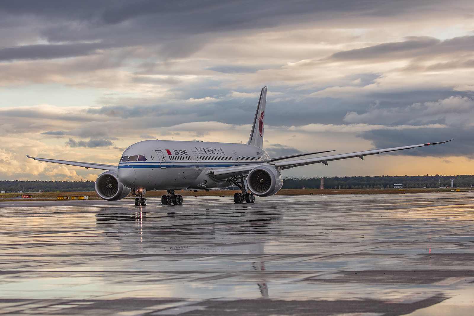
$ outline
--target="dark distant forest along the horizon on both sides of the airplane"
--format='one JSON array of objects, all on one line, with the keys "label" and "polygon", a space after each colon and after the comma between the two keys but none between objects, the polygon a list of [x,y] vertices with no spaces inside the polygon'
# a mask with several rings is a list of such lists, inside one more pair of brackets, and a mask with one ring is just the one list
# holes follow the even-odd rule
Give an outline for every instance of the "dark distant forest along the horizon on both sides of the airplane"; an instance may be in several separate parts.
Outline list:
[{"label": "dark distant forest along the horizon on both sides of the airplane", "polygon": [[[474,185],[473,175],[457,176],[374,176],[374,177],[323,177],[325,189],[380,189],[393,188],[401,183],[403,188],[438,188],[451,186],[457,188]],[[94,191],[94,181],[0,181],[1,191],[18,192],[52,192],[52,191]],[[284,179],[283,189],[319,189],[321,178]]]}]

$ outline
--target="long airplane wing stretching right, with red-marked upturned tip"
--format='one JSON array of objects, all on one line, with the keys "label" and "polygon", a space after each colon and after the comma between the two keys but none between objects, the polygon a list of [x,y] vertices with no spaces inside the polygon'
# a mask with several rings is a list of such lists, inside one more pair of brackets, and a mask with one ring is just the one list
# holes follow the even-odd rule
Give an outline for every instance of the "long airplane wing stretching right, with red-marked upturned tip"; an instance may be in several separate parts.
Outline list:
[{"label": "long airplane wing stretching right, with red-marked upturned tip", "polygon": [[411,146],[402,146],[402,147],[392,147],[392,148],[384,148],[384,149],[374,149],[374,150],[366,150],[363,152],[356,152],[356,153],[341,153],[338,155],[330,155],[330,156],[322,156],[322,157],[316,157],[316,158],[307,158],[307,159],[297,159],[297,160],[290,160],[290,161],[284,161],[284,162],[275,162],[275,163],[253,163],[253,164],[248,164],[245,166],[232,166],[232,167],[223,167],[223,168],[212,168],[209,170],[209,174],[211,177],[214,177],[216,179],[225,179],[228,177],[233,177],[239,174],[246,174],[250,170],[254,169],[255,167],[259,165],[273,165],[282,169],[289,169],[289,168],[294,168],[294,167],[299,167],[299,166],[305,166],[308,164],[313,164],[313,163],[324,163],[325,165],[328,165],[328,161],[334,161],[334,160],[341,160],[341,159],[347,159],[347,158],[355,158],[359,157],[360,159],[364,160],[364,156],[368,155],[375,155],[379,153],[388,153],[388,152],[394,152],[397,150],[403,150],[403,149],[410,149],[410,148],[415,148],[415,147],[424,147],[424,146],[430,146],[430,145],[436,145],[436,144],[443,144],[452,141],[452,139],[444,141],[444,142],[438,142],[438,143],[427,143],[427,144],[418,144],[418,145],[411,145]]}]

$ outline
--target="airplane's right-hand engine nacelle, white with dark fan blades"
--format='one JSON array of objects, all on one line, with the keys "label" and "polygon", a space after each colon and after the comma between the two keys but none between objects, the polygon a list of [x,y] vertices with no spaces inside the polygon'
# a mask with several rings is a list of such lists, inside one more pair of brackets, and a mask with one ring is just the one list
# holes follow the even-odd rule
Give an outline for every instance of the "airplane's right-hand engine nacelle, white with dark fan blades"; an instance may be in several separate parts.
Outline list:
[{"label": "airplane's right-hand engine nacelle, white with dark fan blades", "polygon": [[255,195],[267,197],[280,191],[283,177],[275,167],[262,165],[248,173],[247,186]]}]

